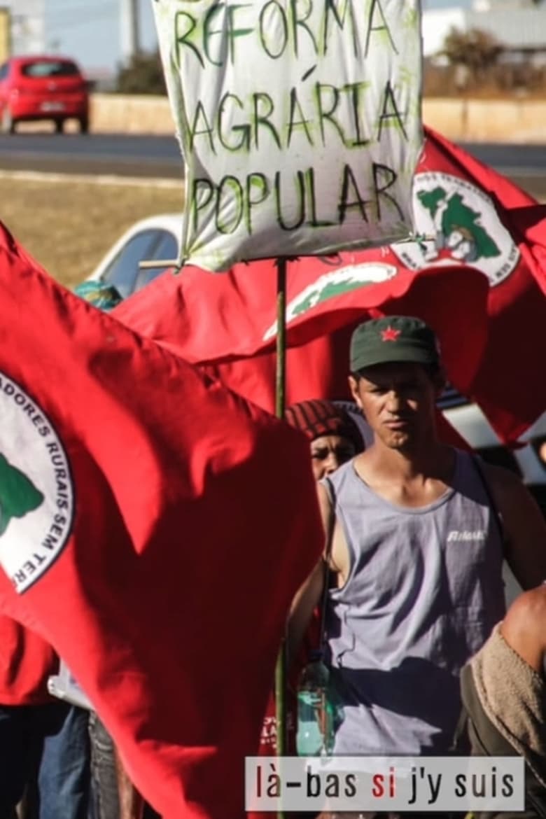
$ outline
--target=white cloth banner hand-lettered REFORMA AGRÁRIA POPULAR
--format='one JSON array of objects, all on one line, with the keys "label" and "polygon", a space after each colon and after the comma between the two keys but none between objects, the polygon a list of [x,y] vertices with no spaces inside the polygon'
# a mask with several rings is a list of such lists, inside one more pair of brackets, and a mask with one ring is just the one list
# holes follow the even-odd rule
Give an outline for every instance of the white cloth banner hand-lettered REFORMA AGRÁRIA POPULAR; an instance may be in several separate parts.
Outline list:
[{"label": "white cloth banner hand-lettered REFORMA AGR\u00c1RIA POPULAR", "polygon": [[419,0],[153,0],[186,171],[183,260],[407,238]]}]

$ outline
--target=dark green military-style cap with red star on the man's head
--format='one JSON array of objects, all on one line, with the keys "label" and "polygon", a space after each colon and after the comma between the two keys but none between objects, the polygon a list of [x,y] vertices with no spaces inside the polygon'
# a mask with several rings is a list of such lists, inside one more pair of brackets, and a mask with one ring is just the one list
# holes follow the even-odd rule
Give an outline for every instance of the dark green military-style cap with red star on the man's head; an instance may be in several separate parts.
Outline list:
[{"label": "dark green military-style cap with red star on the man's head", "polygon": [[438,340],[428,324],[408,315],[388,315],[359,324],[350,341],[351,373],[394,361],[440,363]]}]

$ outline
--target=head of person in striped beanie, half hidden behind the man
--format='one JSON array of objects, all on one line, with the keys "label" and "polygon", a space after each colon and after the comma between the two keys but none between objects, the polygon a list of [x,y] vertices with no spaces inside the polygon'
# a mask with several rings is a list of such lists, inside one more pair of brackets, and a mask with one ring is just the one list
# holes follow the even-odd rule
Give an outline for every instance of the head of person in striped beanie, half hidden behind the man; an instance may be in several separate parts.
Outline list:
[{"label": "head of person in striped beanie, half hidden behind the man", "polygon": [[356,423],[332,401],[315,398],[287,407],[285,419],[309,438],[314,477],[335,472],[364,449]]}]

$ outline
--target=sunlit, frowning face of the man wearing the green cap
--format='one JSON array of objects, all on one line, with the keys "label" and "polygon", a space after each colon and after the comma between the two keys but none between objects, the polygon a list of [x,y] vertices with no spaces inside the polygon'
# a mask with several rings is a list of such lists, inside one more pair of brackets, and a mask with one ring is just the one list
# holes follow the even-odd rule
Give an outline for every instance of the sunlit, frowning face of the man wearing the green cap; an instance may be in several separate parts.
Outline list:
[{"label": "sunlit, frowning face of the man wearing the green cap", "polygon": [[434,384],[421,364],[377,364],[349,377],[354,400],[376,438],[395,450],[411,450],[434,428]]}]

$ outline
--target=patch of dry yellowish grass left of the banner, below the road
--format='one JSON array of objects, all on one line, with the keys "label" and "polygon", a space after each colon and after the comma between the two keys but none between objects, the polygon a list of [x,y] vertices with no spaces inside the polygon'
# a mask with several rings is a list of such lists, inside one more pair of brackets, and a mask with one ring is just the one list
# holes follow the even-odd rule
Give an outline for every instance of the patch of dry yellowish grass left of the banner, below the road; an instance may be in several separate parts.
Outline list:
[{"label": "patch of dry yellowish grass left of the banner, below the road", "polygon": [[72,286],[136,219],[179,212],[181,187],[0,174],[0,219],[34,258]]}]

